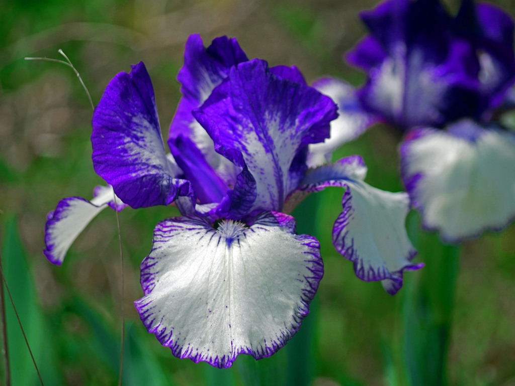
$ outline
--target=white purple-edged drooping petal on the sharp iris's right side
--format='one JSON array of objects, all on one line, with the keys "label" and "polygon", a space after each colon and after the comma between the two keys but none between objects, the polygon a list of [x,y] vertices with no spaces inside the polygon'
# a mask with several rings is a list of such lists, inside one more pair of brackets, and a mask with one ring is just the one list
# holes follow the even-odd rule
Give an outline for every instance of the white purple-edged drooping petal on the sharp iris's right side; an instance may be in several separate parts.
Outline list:
[{"label": "white purple-edged drooping petal on the sharp iris's right side", "polygon": [[391,193],[371,187],[363,181],[365,173],[361,157],[343,158],[308,171],[299,190],[346,188],[342,212],[333,227],[333,244],[354,263],[359,279],[382,281],[385,290],[394,295],[402,287],[403,271],[423,266],[411,263],[417,252],[405,228],[409,198],[404,192]]}]

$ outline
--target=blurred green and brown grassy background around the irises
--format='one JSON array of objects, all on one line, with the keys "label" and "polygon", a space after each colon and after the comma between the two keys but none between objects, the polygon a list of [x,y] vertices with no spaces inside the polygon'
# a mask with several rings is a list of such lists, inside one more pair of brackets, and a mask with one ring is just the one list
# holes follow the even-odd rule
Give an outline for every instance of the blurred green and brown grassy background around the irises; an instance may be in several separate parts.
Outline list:
[{"label": "blurred green and brown grassy background around the irises", "polygon": [[[62,59],[57,50],[63,49],[95,104],[117,72],[144,61],[166,137],[180,98],[176,76],[189,34],[200,33],[205,45],[216,36],[236,36],[249,58],[266,59],[270,65],[296,65],[308,82],[330,74],[358,85],[365,79],[363,73],[344,64],[342,54],[365,33],[357,12],[375,3],[2,3],[0,242],[6,278],[46,385],[117,383],[121,273],[116,219],[110,210],[100,213],[83,232],[61,267],[43,255],[47,212],[66,196],[91,198],[93,187],[103,181],[91,162],[91,108],[74,72],[57,63],[23,58]],[[515,13],[515,1],[495,3]],[[457,2],[447,5],[455,10]],[[334,158],[361,154],[369,167],[367,182],[399,191],[399,140],[388,127],[376,125],[344,145]],[[420,249],[416,262],[425,262],[426,267],[408,272],[405,288],[390,297],[379,283],[356,279],[352,264],[331,244],[341,194],[339,189],[330,189],[317,198],[309,197],[295,213],[298,231],[312,233],[321,242],[325,265],[314,311],[298,337],[257,364],[242,356],[228,371],[174,358],[146,332],[132,304],[142,296],[139,265],[150,250],[153,227],[178,212],[173,207],[122,211],[126,258],[123,384],[515,385],[515,225],[499,234],[484,234],[460,249],[446,249],[434,235],[420,232],[417,216],[410,215],[410,234]],[[453,253],[460,255],[454,303],[453,279],[447,281],[445,276],[446,272],[452,276],[456,260],[449,260],[449,255]],[[445,283],[451,284],[446,287]],[[39,381],[10,303],[6,308],[12,384],[36,385]],[[441,338],[438,328],[433,334],[432,326],[439,326],[440,317],[442,325],[452,321],[449,341]],[[447,374],[442,381],[431,383],[427,369],[435,368],[432,350],[442,342],[444,346],[449,342],[444,357]],[[413,370],[421,366],[425,370]],[[414,371],[424,379],[417,381]],[[2,363],[0,376],[3,373]]]}]

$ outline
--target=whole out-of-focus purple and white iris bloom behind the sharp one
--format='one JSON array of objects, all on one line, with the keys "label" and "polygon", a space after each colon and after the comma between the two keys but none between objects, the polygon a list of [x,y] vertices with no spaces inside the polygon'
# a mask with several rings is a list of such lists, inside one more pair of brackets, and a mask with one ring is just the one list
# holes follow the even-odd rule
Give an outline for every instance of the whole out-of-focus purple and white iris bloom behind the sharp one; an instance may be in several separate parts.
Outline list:
[{"label": "whole out-of-focus purple and white iris bloom behind the sharp one", "polygon": [[398,127],[402,179],[426,228],[459,242],[506,226],[515,218],[515,134],[493,118],[514,106],[511,17],[471,0],[454,17],[437,0],[388,0],[361,17],[370,33],[346,59],[367,72],[366,84],[314,85],[339,105],[332,140],[376,121]]}]

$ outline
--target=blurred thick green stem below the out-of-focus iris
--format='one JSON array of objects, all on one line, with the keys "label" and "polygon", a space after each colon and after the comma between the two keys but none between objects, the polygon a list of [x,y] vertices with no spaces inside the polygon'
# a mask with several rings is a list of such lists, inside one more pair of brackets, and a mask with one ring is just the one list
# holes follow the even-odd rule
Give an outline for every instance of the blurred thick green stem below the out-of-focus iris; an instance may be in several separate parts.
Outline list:
[{"label": "blurred thick green stem below the out-of-focus iris", "polygon": [[426,265],[420,280],[408,279],[403,291],[407,384],[445,386],[460,248],[442,244],[437,234],[418,231],[414,216],[408,224],[411,240]]}]

